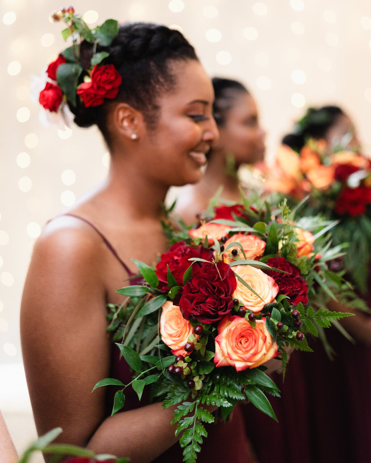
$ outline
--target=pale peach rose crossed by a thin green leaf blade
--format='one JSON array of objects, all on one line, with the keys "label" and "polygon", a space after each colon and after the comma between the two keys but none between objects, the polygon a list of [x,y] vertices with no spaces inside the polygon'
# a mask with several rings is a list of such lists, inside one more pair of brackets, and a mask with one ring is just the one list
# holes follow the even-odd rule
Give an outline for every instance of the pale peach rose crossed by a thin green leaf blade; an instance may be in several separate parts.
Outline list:
[{"label": "pale peach rose crossed by a thin green leaf blade", "polygon": [[251,267],[251,265],[236,265],[232,269],[262,298],[258,298],[237,279],[237,287],[232,297],[240,300],[246,310],[260,312],[265,304],[269,304],[275,300],[279,288],[271,276],[266,275],[260,269]]}]

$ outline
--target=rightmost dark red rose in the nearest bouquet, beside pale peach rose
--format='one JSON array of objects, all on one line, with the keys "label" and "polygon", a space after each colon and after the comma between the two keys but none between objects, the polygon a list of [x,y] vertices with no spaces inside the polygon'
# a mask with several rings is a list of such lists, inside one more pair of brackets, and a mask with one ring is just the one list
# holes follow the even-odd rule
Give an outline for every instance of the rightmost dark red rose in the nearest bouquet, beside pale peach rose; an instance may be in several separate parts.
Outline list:
[{"label": "rightmost dark red rose in the nearest bouquet, beside pale peach rose", "polygon": [[280,288],[280,294],[285,294],[290,298],[290,304],[295,306],[302,302],[308,303],[308,285],[300,275],[300,271],[284,257],[270,257],[267,264],[275,269],[283,270],[287,273],[276,272],[275,270],[264,270],[264,273],[271,276]]}]

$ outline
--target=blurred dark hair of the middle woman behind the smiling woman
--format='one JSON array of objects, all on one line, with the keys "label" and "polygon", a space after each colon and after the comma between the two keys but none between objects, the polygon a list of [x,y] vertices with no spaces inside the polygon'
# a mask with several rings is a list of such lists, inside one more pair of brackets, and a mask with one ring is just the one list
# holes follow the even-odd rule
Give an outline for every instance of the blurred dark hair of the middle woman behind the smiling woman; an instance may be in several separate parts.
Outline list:
[{"label": "blurred dark hair of the middle woman behind the smiling woman", "polygon": [[225,123],[225,115],[233,106],[233,101],[237,95],[249,93],[249,91],[241,82],[220,77],[214,77],[212,85],[215,93],[212,111],[217,125],[222,126]]}]

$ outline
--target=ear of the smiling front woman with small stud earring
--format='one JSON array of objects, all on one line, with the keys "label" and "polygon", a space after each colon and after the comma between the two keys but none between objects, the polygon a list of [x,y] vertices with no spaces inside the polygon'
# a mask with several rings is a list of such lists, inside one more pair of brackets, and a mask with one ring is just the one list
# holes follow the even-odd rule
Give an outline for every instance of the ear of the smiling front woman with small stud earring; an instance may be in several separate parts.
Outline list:
[{"label": "ear of the smiling front woman with small stud earring", "polygon": [[119,103],[113,112],[113,125],[119,136],[139,140],[146,131],[143,114],[127,103]]}]

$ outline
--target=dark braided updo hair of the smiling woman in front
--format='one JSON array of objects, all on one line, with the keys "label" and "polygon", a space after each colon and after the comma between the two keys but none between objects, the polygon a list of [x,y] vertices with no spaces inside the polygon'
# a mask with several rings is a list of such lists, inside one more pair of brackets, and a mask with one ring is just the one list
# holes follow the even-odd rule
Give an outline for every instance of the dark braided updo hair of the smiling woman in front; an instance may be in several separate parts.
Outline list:
[{"label": "dark braided updo hair of the smiling woman in front", "polygon": [[[107,51],[104,64],[113,64],[122,75],[122,84],[115,101],[126,102],[144,114],[148,124],[154,124],[157,97],[175,85],[170,62],[198,60],[192,45],[176,30],[152,23],[127,23],[121,25],[117,37],[109,47],[97,46],[96,51]],[[80,45],[80,62],[90,68],[93,45],[83,41]],[[83,77],[81,77],[83,79]],[[110,133],[107,115],[112,100],[101,106],[88,107],[77,98],[77,106],[71,107],[75,123],[80,127],[96,124],[107,144]]]}]

